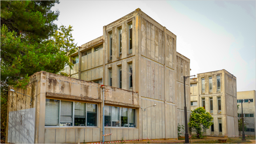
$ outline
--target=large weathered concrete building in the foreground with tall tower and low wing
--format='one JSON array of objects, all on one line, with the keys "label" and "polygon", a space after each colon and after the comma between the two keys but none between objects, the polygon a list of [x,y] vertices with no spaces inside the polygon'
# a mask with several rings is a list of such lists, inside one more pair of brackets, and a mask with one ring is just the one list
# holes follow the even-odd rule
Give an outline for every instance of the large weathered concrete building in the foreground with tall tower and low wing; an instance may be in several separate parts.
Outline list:
[{"label": "large weathered concrete building in the foreground with tall tower and low wing", "polygon": [[[136,9],[103,26],[103,36],[72,57],[73,69],[63,70],[70,77],[38,72],[27,90],[15,89],[32,96],[32,105],[9,92],[6,142],[102,141],[103,88],[105,134],[112,133],[105,141],[178,138],[190,60],[176,52],[176,35]],[[189,81],[185,94],[189,121]]]}]

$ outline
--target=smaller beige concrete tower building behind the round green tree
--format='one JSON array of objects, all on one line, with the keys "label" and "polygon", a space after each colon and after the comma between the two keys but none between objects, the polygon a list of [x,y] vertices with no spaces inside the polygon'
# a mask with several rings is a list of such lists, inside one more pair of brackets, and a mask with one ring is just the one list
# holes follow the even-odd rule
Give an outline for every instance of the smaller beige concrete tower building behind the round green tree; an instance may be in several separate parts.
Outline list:
[{"label": "smaller beige concrete tower building behind the round green tree", "polygon": [[191,111],[204,107],[213,116],[213,124],[204,130],[207,136],[238,135],[236,77],[225,69],[197,74],[190,79]]}]

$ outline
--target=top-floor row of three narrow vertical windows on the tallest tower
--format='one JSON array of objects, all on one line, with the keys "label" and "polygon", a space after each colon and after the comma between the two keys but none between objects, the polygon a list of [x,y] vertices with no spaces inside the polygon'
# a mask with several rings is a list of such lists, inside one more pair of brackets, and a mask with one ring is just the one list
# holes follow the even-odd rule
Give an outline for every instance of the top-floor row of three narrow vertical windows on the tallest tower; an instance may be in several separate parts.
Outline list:
[{"label": "top-floor row of three narrow vertical windows on the tallest tower", "polygon": [[[119,57],[122,54],[122,28],[118,29],[118,47],[119,47]],[[129,54],[132,53],[132,23],[129,24]],[[110,60],[112,60],[112,32],[109,33],[109,53],[110,53]]]}]

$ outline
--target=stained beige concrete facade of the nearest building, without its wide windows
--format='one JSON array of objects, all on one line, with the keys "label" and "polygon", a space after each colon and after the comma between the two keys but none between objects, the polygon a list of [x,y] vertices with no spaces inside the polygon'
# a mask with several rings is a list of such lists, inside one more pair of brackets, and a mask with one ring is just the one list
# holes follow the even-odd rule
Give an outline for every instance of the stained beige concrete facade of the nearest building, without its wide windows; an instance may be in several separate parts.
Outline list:
[{"label": "stained beige concrete facade of the nearest building, without its wide windows", "polygon": [[[66,67],[63,70],[71,78],[45,72],[35,74],[43,81],[38,87],[44,89],[40,91],[42,99],[37,105],[40,113],[36,113],[36,121],[39,121],[38,115],[41,117],[40,125],[37,122],[35,126],[35,143],[102,141],[103,96],[100,84],[108,89],[105,92],[106,106],[136,110],[136,124],[118,128],[113,126],[116,123],[106,126],[105,134],[112,135],[105,136],[105,141],[178,138],[178,123],[185,125],[183,76],[190,75],[190,60],[176,52],[176,35],[136,9],[104,26],[103,36],[83,44],[72,57],[76,58],[73,69]],[[187,80],[185,94],[189,120],[188,88]],[[74,104],[78,101],[96,104],[97,126],[45,126],[47,98],[60,102],[69,100]],[[155,107],[150,107],[154,104]]]}]

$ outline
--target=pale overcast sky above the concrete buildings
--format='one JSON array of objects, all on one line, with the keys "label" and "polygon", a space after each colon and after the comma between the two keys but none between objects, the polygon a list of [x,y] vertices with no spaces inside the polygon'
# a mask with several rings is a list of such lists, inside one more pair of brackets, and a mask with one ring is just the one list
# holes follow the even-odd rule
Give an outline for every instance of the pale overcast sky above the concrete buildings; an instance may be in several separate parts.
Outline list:
[{"label": "pale overcast sky above the concrete buildings", "polygon": [[140,8],[177,36],[190,75],[226,69],[237,92],[256,89],[255,1],[60,1],[58,26],[73,26],[78,46],[103,35],[103,26]]}]

